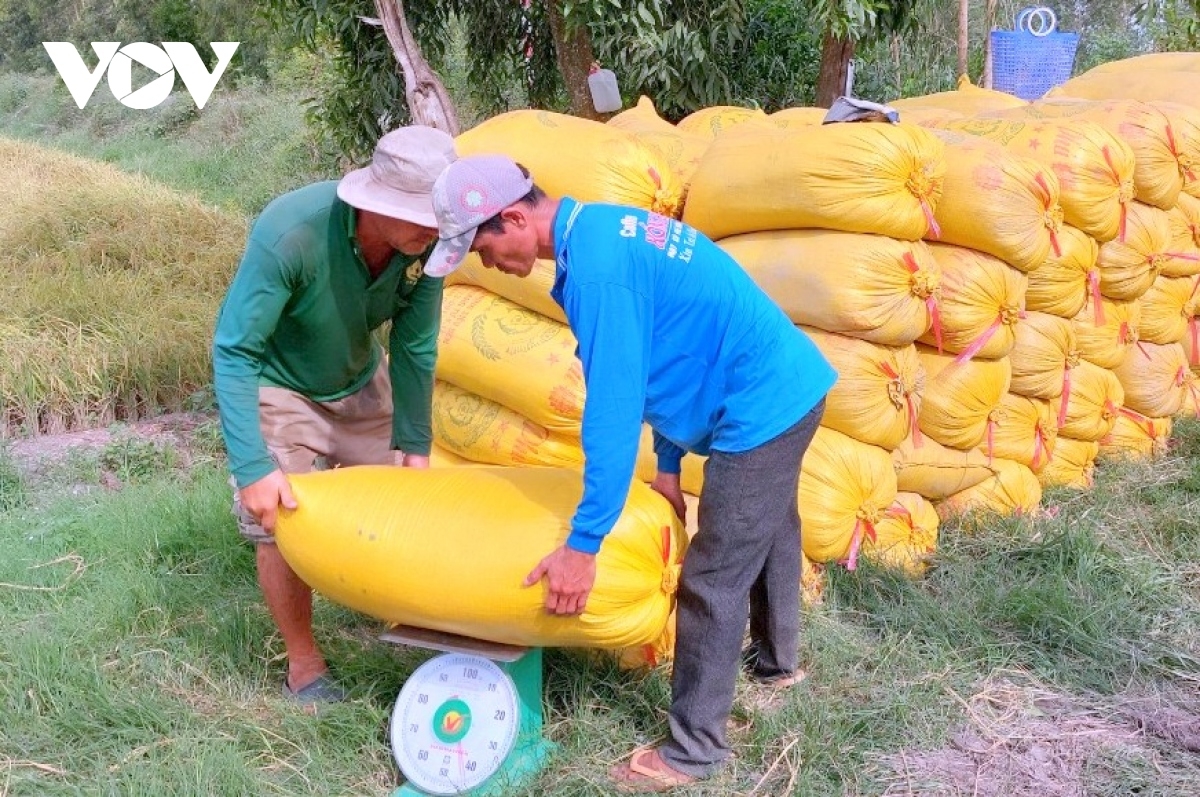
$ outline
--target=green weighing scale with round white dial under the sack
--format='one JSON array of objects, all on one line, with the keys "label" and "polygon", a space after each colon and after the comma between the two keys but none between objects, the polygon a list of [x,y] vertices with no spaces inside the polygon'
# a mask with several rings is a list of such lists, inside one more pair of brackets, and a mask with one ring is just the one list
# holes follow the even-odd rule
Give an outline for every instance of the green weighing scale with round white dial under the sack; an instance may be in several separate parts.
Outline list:
[{"label": "green weighing scale with round white dial under the sack", "polygon": [[379,639],[442,651],[396,697],[389,741],[408,783],[392,797],[504,797],[538,777],[556,748],[541,736],[541,648],[410,625]]}]

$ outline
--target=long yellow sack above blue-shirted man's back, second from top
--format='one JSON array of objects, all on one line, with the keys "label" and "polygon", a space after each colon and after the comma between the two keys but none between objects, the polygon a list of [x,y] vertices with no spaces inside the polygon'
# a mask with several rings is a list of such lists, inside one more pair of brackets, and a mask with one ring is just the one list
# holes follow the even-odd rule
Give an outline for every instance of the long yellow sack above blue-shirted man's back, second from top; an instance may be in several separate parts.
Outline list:
[{"label": "long yellow sack above blue-shirted man's back, second from top", "polygon": [[720,241],[797,324],[907,346],[940,329],[941,269],[923,241],[787,229]]}]

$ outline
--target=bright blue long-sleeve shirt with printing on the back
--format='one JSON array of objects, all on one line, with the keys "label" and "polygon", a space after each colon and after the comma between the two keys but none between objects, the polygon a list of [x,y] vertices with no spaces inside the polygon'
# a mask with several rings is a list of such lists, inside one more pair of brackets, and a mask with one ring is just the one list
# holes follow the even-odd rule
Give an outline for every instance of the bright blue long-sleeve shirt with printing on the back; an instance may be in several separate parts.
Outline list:
[{"label": "bright blue long-sleeve shirt with printing on the back", "polygon": [[564,198],[551,296],[578,341],[583,497],[566,544],[600,550],[629,495],[644,420],[659,469],[684,451],[736,454],[784,433],[836,373],[749,275],[694,228]]}]

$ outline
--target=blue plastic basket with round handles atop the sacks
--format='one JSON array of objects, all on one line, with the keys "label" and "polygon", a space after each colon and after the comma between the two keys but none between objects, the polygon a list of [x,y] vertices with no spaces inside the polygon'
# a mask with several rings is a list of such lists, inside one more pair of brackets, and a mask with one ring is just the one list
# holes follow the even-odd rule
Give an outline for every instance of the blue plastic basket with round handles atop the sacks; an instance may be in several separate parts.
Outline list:
[{"label": "blue plastic basket with round handles atop the sacks", "polygon": [[1079,34],[1034,36],[991,31],[991,85],[1021,100],[1037,100],[1070,77]]}]

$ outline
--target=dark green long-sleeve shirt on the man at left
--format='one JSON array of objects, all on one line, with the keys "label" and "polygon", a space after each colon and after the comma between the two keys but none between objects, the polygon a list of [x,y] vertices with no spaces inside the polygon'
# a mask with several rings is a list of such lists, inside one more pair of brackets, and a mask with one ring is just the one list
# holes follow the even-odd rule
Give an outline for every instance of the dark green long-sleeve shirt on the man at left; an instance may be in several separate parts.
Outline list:
[{"label": "dark green long-sleeve shirt on the man at left", "polygon": [[239,487],[271,471],[259,385],[335,401],[362,388],[382,355],[372,331],[391,320],[392,448],[428,454],[442,280],[396,253],[372,278],[354,209],[337,182],[278,197],[259,215],[217,314],[212,370],[229,469]]}]

